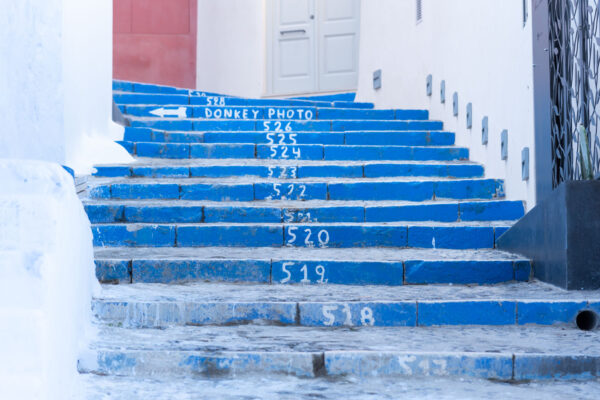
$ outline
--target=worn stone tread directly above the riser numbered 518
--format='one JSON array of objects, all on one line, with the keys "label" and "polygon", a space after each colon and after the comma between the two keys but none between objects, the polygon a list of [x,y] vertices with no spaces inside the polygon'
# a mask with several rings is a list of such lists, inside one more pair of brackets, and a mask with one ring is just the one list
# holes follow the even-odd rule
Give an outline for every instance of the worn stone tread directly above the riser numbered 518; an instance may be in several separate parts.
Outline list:
[{"label": "worn stone tread directly above the riser numbered 518", "polygon": [[189,283],[103,285],[96,301],[130,303],[354,303],[354,302],[593,302],[600,307],[600,290],[569,292],[542,282],[491,286],[423,285],[257,285]]}]

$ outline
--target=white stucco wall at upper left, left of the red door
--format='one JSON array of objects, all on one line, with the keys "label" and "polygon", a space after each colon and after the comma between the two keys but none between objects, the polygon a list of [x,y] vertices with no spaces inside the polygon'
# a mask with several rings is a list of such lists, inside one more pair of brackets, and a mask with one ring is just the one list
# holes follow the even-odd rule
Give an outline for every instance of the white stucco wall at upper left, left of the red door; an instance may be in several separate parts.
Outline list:
[{"label": "white stucco wall at upper left, left of the red door", "polygon": [[79,173],[130,160],[113,140],[112,2],[6,0],[0,13],[0,158]]}]

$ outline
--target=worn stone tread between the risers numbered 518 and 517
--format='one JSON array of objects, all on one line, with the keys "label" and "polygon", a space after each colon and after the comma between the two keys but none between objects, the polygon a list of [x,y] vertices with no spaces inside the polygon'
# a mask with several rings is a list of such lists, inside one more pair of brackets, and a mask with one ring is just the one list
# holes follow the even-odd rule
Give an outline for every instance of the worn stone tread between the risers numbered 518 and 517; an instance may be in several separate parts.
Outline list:
[{"label": "worn stone tread between the risers numbered 518 and 517", "polygon": [[[565,344],[568,344],[565,346]],[[535,353],[600,356],[600,332],[575,327],[171,326],[127,329],[99,324],[95,349],[225,352]]]}]

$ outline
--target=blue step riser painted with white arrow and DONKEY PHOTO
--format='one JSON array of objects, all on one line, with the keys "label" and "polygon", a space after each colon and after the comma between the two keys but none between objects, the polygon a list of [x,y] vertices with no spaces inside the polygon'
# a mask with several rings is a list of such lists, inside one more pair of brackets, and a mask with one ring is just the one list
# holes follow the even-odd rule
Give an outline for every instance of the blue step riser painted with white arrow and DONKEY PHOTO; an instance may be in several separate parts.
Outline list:
[{"label": "blue step riser painted with white arrow and DONKEY PHOTO", "polygon": [[[426,110],[363,110],[315,107],[202,107],[202,106],[121,106],[134,117],[201,118],[219,120],[426,120]],[[162,113],[162,115],[161,115]]]}]

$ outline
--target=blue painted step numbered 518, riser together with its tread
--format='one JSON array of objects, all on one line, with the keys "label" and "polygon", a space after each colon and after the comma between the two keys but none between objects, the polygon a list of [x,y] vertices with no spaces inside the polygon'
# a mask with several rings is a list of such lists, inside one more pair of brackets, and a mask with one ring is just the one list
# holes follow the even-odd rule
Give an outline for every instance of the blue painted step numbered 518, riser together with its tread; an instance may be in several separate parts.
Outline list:
[{"label": "blue painted step numbered 518, riser together with its tread", "polygon": [[[532,298],[527,294],[527,287],[546,300]],[[564,325],[573,324],[581,310],[600,310],[600,300],[593,295],[565,296],[532,283],[464,289],[465,294],[459,298],[451,294],[456,289],[448,286],[374,287],[372,291],[378,294],[376,301],[369,295],[361,295],[364,293],[361,286],[304,285],[299,291],[287,285],[246,285],[245,293],[235,293],[240,292],[236,288],[239,286],[192,284],[183,293],[163,289],[165,293],[161,297],[160,291],[148,295],[142,292],[143,287],[137,289],[134,286],[125,293],[141,292],[140,296],[134,297],[136,300],[110,296],[94,301],[93,309],[104,322],[133,328],[252,322],[363,328]],[[486,292],[485,296],[479,295]],[[233,299],[228,301],[225,296],[229,293],[233,293],[230,295]],[[248,302],[249,297],[254,301]],[[349,298],[363,300],[349,301]]]}]

